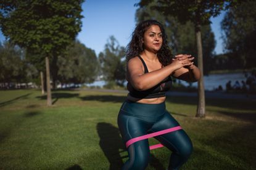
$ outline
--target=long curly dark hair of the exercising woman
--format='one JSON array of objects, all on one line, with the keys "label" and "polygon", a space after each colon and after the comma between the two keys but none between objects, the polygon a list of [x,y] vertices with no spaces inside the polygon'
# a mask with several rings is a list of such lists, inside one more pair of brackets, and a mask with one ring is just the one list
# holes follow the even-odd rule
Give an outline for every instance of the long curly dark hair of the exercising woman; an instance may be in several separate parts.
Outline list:
[{"label": "long curly dark hair of the exercising woman", "polygon": [[163,25],[159,23],[157,20],[146,20],[139,23],[133,31],[131,41],[126,47],[126,61],[128,62],[131,58],[135,56],[141,55],[144,50],[143,47],[143,36],[144,33],[149,29],[151,25],[158,25],[161,32],[163,43],[160,50],[157,52],[157,57],[159,58],[160,63],[163,66],[167,66],[171,63],[171,50],[167,45],[167,35],[165,34],[165,29],[163,29]]}]

